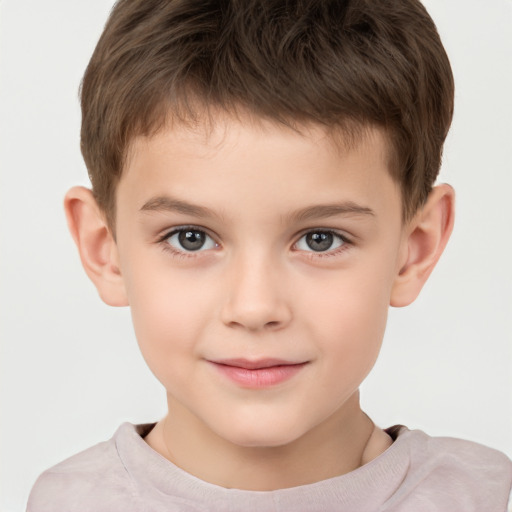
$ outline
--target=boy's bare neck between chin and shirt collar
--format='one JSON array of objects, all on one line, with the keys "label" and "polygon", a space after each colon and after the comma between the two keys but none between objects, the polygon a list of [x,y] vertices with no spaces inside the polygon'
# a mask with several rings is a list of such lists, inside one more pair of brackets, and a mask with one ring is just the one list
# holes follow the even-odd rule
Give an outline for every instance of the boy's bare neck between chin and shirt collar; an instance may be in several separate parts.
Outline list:
[{"label": "boy's bare neck between chin and shirt collar", "polygon": [[146,442],[184,471],[226,488],[269,491],[318,482],[353,471],[389,445],[361,411],[358,393],[302,437],[272,447],[233,444],[181,404],[168,402],[170,414]]}]

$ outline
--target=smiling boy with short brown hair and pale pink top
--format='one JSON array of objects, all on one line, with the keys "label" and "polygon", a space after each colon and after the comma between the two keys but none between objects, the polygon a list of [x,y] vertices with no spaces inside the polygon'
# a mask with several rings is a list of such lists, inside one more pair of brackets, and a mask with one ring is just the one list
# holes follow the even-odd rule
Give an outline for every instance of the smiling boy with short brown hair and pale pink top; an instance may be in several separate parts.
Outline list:
[{"label": "smiling boy with short brown hair and pale pink top", "polygon": [[82,111],[69,226],[169,414],[45,472],[29,510],[505,509],[506,457],[359,406],[453,225],[453,81],[418,2],[124,0]]}]

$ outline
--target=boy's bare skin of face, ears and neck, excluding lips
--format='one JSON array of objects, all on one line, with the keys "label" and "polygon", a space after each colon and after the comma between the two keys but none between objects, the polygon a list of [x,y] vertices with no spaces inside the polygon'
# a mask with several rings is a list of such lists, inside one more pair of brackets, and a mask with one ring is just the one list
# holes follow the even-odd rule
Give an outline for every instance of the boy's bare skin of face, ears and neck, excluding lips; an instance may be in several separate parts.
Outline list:
[{"label": "boy's bare skin of face, ears and neck, excluding lips", "polygon": [[[389,447],[358,388],[389,305],[414,300],[453,224],[448,186],[402,222],[380,131],[349,149],[304,128],[225,117],[210,131],[135,139],[115,237],[88,190],[66,198],[87,273],[107,303],[130,306],[167,392],[169,414],[147,443],[224,487],[312,483]],[[184,227],[208,235],[200,250],[180,245]],[[332,246],[315,251],[305,235],[322,232],[335,234]],[[219,372],[227,358],[305,364],[254,389]]]}]

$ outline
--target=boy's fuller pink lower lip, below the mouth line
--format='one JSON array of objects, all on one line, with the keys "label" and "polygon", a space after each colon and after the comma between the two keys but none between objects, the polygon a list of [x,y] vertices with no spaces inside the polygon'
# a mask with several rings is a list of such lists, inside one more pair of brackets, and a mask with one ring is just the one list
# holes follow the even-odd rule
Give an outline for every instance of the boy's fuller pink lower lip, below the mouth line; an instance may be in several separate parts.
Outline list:
[{"label": "boy's fuller pink lower lip, below the mouth line", "polygon": [[244,388],[261,389],[281,384],[299,373],[307,363],[270,366],[249,370],[239,366],[213,363],[217,370]]}]

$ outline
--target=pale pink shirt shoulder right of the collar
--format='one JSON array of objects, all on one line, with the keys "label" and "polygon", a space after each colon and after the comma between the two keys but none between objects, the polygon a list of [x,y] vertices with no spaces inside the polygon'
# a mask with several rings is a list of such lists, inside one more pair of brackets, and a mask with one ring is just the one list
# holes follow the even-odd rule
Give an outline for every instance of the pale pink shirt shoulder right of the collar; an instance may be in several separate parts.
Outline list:
[{"label": "pale pink shirt shoulder right of the collar", "polygon": [[453,510],[505,510],[512,486],[512,461],[506,455],[478,443],[430,437],[419,430],[404,429],[399,437],[409,444],[404,492],[409,489],[425,502],[437,500]]}]

